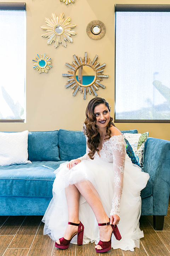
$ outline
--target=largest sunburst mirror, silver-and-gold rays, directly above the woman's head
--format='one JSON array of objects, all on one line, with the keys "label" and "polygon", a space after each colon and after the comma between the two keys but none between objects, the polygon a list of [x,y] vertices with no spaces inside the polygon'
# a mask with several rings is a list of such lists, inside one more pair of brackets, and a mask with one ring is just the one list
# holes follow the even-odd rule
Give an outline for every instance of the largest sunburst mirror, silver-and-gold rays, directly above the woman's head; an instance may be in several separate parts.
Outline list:
[{"label": "largest sunburst mirror, silver-and-gold rays, directly above the woman's head", "polygon": [[105,88],[106,86],[101,84],[103,78],[108,78],[108,75],[103,75],[103,69],[106,64],[103,63],[100,65],[97,62],[98,56],[91,61],[90,58],[87,58],[87,52],[85,52],[85,57],[82,59],[81,57],[77,57],[73,55],[75,61],[72,64],[66,63],[71,70],[68,71],[68,74],[62,74],[62,76],[66,76],[68,78],[66,88],[71,87],[73,89],[73,96],[77,94],[78,91],[83,93],[83,98],[86,99],[86,94],[97,96],[96,91],[101,88]]}]

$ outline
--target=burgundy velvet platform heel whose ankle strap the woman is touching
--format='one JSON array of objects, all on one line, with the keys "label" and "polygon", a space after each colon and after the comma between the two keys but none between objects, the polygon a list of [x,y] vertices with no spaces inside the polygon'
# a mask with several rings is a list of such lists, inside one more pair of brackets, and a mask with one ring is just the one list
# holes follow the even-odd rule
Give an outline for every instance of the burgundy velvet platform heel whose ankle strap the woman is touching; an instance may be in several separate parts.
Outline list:
[{"label": "burgundy velvet platform heel whose ankle strap the woman is touching", "polygon": [[[98,224],[98,226],[108,226],[108,225],[110,225],[110,222],[99,223]],[[114,234],[114,236],[117,240],[120,240],[121,235],[120,235],[120,232],[119,232],[119,229],[118,229],[117,225],[112,224],[111,226],[112,226],[112,229],[113,229],[112,234]],[[111,238],[112,238],[112,234],[111,234]],[[103,242],[103,241],[100,240],[98,242],[98,245],[100,245],[102,247],[102,249],[101,250],[96,249],[96,252],[99,252],[99,253],[107,252],[107,251],[111,250],[111,239],[108,242]]]}]

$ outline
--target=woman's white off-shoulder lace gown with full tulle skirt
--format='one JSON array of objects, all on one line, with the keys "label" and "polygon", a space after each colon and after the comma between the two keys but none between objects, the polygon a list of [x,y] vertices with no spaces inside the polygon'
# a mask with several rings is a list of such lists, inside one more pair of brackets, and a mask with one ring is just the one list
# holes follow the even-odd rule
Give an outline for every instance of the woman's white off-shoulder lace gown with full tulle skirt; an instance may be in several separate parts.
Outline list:
[{"label": "woman's white off-shoulder lace gown with full tulle skirt", "polygon": [[[146,186],[149,174],[132,164],[126,154],[123,135],[114,135],[104,141],[100,153],[95,153],[94,160],[91,160],[87,153],[88,149],[80,158],[80,164],[72,169],[67,168],[66,162],[55,171],[53,198],[42,219],[45,223],[44,235],[48,234],[54,241],[64,235],[68,223],[64,189],[69,184],[86,180],[89,186],[92,184],[95,187],[108,217],[110,214],[120,216],[118,228],[122,239],[118,241],[112,235],[113,249],[134,251],[143,237],[143,231],[139,228],[140,192]],[[100,240],[98,224],[83,196],[80,196],[79,219],[85,227],[83,244],[90,241],[97,244]],[[76,244],[77,236],[71,242]]]}]

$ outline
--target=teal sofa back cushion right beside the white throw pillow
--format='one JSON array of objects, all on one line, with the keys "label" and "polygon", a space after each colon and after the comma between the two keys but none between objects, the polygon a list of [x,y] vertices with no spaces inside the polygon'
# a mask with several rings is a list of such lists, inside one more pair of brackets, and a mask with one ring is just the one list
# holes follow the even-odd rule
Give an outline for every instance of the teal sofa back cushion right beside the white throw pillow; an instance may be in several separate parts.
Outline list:
[{"label": "teal sofa back cushion right beside the white throw pillow", "polygon": [[58,130],[29,132],[28,159],[30,161],[60,161]]}]

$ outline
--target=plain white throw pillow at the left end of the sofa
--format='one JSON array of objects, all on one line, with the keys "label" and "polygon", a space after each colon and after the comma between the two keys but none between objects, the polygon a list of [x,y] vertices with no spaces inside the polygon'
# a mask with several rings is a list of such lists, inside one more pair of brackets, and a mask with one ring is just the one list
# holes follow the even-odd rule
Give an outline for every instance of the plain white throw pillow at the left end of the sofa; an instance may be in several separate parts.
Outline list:
[{"label": "plain white throw pillow at the left end of the sofa", "polygon": [[0,132],[0,166],[13,164],[31,164],[28,161],[28,130]]}]

